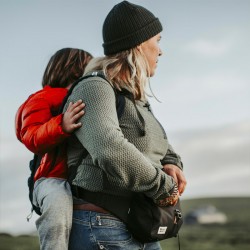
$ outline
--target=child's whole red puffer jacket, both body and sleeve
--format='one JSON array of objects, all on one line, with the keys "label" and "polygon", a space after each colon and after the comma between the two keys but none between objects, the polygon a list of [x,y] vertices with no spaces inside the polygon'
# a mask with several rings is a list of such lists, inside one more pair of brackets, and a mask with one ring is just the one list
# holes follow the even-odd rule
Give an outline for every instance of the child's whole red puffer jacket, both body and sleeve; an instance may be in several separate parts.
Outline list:
[{"label": "child's whole red puffer jacket, both body and sleeve", "polygon": [[31,152],[43,155],[35,181],[41,177],[67,177],[65,138],[69,134],[62,130],[63,115],[55,116],[66,94],[65,88],[46,86],[32,94],[17,111],[15,126],[18,140]]}]

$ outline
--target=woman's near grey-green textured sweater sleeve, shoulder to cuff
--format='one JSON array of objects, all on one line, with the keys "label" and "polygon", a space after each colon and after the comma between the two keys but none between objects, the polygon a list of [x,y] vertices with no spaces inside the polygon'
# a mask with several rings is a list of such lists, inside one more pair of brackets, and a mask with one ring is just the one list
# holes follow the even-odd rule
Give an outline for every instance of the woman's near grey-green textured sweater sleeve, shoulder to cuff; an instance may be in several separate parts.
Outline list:
[{"label": "woman's near grey-green textured sweater sleeve, shoulder to cuff", "polygon": [[110,84],[97,78],[84,80],[75,87],[68,103],[80,98],[86,104],[84,120],[81,121],[84,125],[75,135],[112,185],[124,190],[144,192],[153,199],[168,194],[174,186],[172,177],[152,166],[124,138],[117,118],[114,90]]}]

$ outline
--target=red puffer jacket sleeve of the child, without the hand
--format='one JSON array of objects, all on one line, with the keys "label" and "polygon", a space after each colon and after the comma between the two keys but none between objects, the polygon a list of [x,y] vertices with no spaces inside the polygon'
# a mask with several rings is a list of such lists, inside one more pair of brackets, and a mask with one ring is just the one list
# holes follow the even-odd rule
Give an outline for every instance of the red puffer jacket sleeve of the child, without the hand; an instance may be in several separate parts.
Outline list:
[{"label": "red puffer jacket sleeve of the child, without the hand", "polygon": [[44,98],[31,98],[17,112],[17,138],[33,153],[47,153],[69,136],[62,130],[62,116],[53,117]]}]

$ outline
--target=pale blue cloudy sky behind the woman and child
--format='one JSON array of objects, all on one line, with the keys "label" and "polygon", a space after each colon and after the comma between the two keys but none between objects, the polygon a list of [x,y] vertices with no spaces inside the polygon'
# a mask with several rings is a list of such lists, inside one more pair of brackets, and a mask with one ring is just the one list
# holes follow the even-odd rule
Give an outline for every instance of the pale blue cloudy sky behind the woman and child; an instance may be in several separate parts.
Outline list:
[{"label": "pale blue cloudy sky behind the woman and child", "polygon": [[[119,2],[0,0],[0,231],[34,228],[34,223],[23,224],[29,210],[26,178],[32,154],[15,137],[18,107],[41,88],[46,64],[57,50],[74,47],[103,55],[102,23]],[[154,98],[150,102],[185,160],[189,184],[184,198],[250,195],[246,184],[250,177],[250,1],[131,2],[148,8],[163,25],[163,55],[150,79],[160,102]],[[215,175],[209,171],[213,164]],[[224,175],[228,165],[230,173]],[[235,171],[235,166],[242,171]],[[216,180],[209,184],[215,188],[200,188],[203,182]],[[219,188],[222,181],[235,183],[233,192],[227,186]],[[9,218],[16,213],[15,204],[22,216],[13,217],[14,222]]]}]

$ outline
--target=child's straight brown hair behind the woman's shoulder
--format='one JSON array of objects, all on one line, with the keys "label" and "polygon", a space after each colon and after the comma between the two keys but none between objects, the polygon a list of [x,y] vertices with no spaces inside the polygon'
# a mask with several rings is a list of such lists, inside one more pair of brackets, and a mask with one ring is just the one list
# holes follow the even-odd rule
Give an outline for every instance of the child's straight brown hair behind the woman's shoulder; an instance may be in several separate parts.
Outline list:
[{"label": "child's straight brown hair behind the woman's shoulder", "polygon": [[66,88],[83,75],[86,65],[92,59],[87,51],[73,48],[58,50],[45,69],[42,86]]}]

